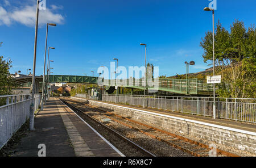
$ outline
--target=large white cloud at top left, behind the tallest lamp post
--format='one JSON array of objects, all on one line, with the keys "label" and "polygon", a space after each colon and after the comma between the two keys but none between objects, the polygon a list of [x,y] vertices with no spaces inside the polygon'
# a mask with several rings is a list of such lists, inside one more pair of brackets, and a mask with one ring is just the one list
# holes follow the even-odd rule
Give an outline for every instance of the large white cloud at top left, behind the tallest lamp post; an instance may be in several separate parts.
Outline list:
[{"label": "large white cloud at top left, behind the tallest lamp post", "polygon": [[[61,14],[54,13],[57,9],[63,9],[63,6],[52,5],[51,9],[39,10],[39,26],[46,23],[63,24],[64,17]],[[0,25],[10,26],[12,23],[21,23],[28,27],[35,25],[36,5],[26,5],[4,9],[0,6]]]}]

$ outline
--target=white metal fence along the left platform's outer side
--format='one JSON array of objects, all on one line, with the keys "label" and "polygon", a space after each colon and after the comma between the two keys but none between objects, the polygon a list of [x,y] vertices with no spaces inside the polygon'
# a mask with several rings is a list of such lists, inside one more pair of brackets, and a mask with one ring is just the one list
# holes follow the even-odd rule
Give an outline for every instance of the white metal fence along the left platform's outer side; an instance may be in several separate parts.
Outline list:
[{"label": "white metal fence along the left platform's outer side", "polygon": [[[35,110],[39,108],[40,94],[35,94]],[[0,149],[30,117],[31,95],[0,96]]]}]

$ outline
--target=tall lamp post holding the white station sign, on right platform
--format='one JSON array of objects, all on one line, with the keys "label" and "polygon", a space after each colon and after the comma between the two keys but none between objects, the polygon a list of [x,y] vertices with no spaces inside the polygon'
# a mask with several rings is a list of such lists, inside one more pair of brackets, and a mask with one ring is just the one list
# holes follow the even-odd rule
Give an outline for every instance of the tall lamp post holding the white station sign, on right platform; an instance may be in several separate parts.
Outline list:
[{"label": "tall lamp post holding the white station sign, on right platform", "polygon": [[[214,9],[205,7],[204,11],[212,11],[212,45],[213,45],[213,75],[215,75],[215,58],[214,58]],[[213,119],[216,119],[216,103],[215,103],[215,83],[213,83]]]}]

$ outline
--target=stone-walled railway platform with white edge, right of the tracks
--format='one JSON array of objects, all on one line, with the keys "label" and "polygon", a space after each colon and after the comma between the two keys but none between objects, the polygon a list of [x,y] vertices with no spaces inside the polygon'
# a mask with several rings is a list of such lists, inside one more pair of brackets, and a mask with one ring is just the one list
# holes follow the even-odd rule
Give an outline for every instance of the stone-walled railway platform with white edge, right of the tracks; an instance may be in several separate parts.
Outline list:
[{"label": "stone-walled railway platform with white edge, right of the tracks", "polygon": [[[143,121],[167,132],[177,133],[196,141],[214,143],[222,150],[240,150],[240,152],[256,153],[256,125],[232,120],[212,119],[205,116],[182,114],[172,111],[142,108],[127,104],[115,104],[98,100],[83,100],[102,110],[115,112],[127,118]],[[237,154],[240,155],[240,152]]]}]

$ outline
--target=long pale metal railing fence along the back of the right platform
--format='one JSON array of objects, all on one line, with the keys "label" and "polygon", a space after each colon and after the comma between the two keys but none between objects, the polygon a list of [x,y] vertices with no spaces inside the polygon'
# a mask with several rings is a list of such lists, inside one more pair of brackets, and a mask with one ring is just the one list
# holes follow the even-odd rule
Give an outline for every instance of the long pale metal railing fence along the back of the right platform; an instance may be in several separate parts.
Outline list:
[{"label": "long pale metal railing fence along the back of the right platform", "polygon": [[[106,102],[143,106],[143,95],[103,95]],[[220,119],[256,123],[256,99],[216,98]],[[145,106],[192,115],[213,117],[213,98],[185,96],[146,96]]]}]

